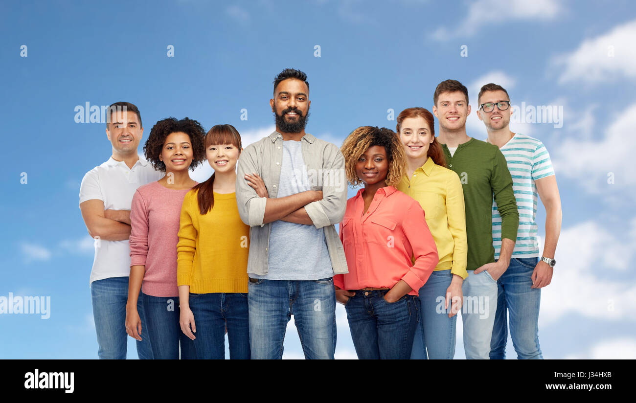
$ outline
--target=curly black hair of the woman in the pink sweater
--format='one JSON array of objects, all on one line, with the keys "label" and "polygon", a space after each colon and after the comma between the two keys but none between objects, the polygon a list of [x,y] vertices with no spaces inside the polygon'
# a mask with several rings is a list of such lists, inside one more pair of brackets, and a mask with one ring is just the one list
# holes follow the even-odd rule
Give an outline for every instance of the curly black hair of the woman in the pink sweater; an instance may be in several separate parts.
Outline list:
[{"label": "curly black hair of the woman in the pink sweater", "polygon": [[205,130],[201,123],[196,120],[183,118],[176,120],[175,118],[167,118],[155,123],[150,130],[150,135],[146,144],[144,144],[144,155],[156,170],[165,172],[165,163],[159,160],[159,156],[163,149],[166,137],[170,133],[186,133],[190,136],[192,144],[192,163],[190,170],[194,170],[202,161],[205,160]]}]

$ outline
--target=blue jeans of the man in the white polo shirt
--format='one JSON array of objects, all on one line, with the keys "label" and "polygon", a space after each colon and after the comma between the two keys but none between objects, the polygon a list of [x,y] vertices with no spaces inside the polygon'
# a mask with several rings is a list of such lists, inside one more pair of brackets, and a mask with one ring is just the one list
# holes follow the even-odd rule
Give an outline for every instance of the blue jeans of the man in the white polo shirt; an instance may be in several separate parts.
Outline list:
[{"label": "blue jeans of the man in the white polo shirt", "polygon": [[[93,304],[93,318],[99,350],[97,357],[103,359],[125,360],[128,346],[126,333],[126,303],[128,302],[128,277],[111,277],[95,280],[90,284],[90,296]],[[137,300],[137,311],[141,318],[141,327],[146,329],[146,318],[141,297]],[[153,358],[148,337],[137,341],[137,356],[140,360]]]}]

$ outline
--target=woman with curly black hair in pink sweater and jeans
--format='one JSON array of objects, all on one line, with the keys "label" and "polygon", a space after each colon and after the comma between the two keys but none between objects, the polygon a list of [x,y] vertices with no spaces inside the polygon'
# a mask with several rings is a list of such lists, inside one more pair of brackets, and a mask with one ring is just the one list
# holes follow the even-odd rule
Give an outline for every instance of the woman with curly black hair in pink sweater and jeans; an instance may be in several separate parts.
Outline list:
[{"label": "woman with curly black hair in pink sweater and jeans", "polygon": [[[153,358],[196,358],[192,341],[179,325],[177,243],[183,198],[198,182],[190,178],[205,159],[204,128],[196,120],[168,118],[150,131],[144,153],[156,170],[166,175],[141,186],[130,211],[130,281],[126,331],[150,339]],[[137,296],[141,289],[148,329],[141,328]]]}]

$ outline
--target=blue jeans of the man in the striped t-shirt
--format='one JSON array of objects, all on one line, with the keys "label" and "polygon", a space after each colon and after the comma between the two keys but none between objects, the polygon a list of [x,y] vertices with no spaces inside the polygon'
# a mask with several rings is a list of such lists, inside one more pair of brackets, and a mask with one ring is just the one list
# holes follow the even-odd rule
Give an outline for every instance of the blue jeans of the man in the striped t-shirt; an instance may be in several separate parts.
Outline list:
[{"label": "blue jeans of the man in the striped t-shirt", "polygon": [[513,257],[508,270],[497,280],[497,313],[490,341],[490,359],[506,358],[508,323],[518,359],[542,360],[539,348],[539,304],[541,289],[532,286],[532,272],[539,257]]}]

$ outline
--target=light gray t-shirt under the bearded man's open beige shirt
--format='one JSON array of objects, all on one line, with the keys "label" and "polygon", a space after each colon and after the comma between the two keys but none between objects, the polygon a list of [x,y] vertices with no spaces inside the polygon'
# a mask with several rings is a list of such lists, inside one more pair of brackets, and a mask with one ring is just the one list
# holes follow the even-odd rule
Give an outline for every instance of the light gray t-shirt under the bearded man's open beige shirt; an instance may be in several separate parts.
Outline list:
[{"label": "light gray t-shirt under the bearded man's open beige shirt", "polygon": [[[301,142],[283,141],[277,197],[311,190],[307,167],[303,161]],[[319,280],[333,277],[324,229],[313,225],[274,221],[270,232],[269,271],[266,280]]]}]

